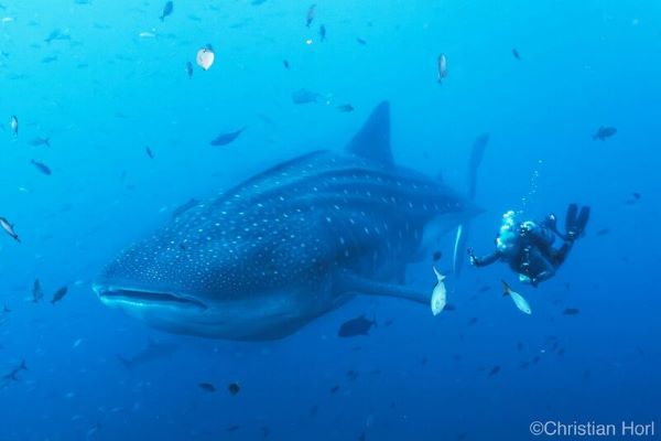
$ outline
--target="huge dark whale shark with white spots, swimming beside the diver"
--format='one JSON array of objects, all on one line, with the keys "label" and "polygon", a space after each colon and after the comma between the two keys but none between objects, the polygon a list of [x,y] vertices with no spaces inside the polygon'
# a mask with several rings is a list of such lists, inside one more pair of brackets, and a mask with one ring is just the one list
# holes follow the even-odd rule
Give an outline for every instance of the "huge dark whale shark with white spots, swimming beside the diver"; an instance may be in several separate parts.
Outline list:
[{"label": "huge dark whale shark with white spots, swimming beside the diver", "polygon": [[356,295],[430,304],[407,266],[479,209],[441,179],[397,165],[390,105],[343,152],[278,163],[129,246],[93,288],[162,331],[285,337]]}]

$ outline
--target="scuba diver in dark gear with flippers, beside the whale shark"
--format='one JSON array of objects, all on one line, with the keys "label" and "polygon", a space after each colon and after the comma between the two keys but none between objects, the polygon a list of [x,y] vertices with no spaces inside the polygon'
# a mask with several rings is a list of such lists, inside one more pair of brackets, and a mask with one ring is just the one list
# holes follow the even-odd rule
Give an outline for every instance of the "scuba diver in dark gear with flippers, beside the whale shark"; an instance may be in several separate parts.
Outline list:
[{"label": "scuba diver in dark gear with flippers, beside the whale shark", "polygon": [[[555,275],[572,250],[574,241],[583,234],[588,219],[589,207],[584,206],[578,211],[576,204],[570,204],[565,219],[566,233],[562,234],[557,230],[557,219],[553,214],[541,223],[518,223],[514,212],[509,211],[502,215],[502,225],[496,237],[496,250],[490,255],[476,257],[473,249],[468,248],[470,263],[486,267],[498,260],[506,261],[519,273],[521,282],[537,287]],[[563,240],[559,248],[553,247],[555,236]]]}]

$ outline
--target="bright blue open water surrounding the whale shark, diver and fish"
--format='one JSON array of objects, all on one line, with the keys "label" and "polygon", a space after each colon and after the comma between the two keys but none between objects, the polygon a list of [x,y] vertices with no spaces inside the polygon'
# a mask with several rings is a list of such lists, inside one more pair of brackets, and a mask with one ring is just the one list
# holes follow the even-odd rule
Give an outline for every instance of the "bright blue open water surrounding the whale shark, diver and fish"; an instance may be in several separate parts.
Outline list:
[{"label": "bright blue open water surrounding the whale shark, diver and fish", "polygon": [[[535,420],[654,419],[643,438],[659,438],[658,1],[319,0],[310,28],[304,2],[175,0],[161,22],[163,3],[0,7],[0,216],[22,240],[0,235],[0,303],[11,309],[0,374],[29,367],[1,383],[0,440],[527,440]],[[54,30],[63,39],[45,42]],[[195,65],[206,44],[208,72]],[[318,103],[293,104],[301,88]],[[446,280],[456,310],[441,316],[360,297],[268,343],[161,333],[97,300],[95,276],[176,206],[294,154],[342,149],[382,99],[395,161],[460,191],[473,141],[490,133],[476,251],[491,249],[507,209],[563,219],[570,202],[592,206],[554,279],[533,289],[505,265],[465,268]],[[617,135],[593,140],[600,126]],[[32,146],[44,137],[51,148]],[[444,272],[452,240],[438,244]],[[413,276],[422,289],[435,282],[427,267]],[[69,292],[34,304],[35,278],[45,300]],[[531,316],[501,297],[500,279]],[[362,313],[377,319],[370,335],[338,338]],[[178,351],[119,363],[150,340]]]}]

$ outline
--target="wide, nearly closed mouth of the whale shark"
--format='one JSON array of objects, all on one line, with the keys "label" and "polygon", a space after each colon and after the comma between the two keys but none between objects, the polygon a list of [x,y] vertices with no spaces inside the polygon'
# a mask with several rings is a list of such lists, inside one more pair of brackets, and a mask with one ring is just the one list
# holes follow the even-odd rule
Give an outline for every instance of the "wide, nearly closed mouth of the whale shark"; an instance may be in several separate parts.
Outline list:
[{"label": "wide, nearly closed mouth of the whale shark", "polygon": [[142,290],[136,288],[118,288],[95,286],[95,291],[105,303],[129,303],[133,305],[162,304],[170,306],[193,306],[206,310],[207,305],[199,300],[172,292]]}]

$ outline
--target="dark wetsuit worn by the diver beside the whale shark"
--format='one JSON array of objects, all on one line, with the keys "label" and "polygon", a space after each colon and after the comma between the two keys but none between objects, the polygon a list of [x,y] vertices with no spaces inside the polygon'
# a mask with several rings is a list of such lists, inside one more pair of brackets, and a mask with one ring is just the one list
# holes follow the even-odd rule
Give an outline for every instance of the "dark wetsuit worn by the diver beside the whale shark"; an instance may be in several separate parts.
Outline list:
[{"label": "dark wetsuit worn by the diver beside the whale shark", "polygon": [[[555,236],[563,239],[560,248],[553,248]],[[555,275],[565,261],[574,245],[574,235],[562,236],[553,227],[542,226],[533,222],[524,222],[519,226],[516,244],[507,251],[496,249],[484,257],[472,256],[472,263],[486,267],[498,260],[505,260],[510,268],[530,279],[532,286]]]}]

